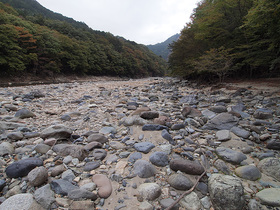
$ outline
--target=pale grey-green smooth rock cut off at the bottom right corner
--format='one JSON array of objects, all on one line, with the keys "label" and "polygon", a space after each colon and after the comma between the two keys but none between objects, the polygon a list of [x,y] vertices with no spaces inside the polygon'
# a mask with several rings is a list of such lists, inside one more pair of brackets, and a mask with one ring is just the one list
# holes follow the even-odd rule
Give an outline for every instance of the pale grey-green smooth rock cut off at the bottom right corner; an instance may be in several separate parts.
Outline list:
[{"label": "pale grey-green smooth rock cut off at the bottom right corner", "polygon": [[267,188],[256,194],[261,203],[269,206],[280,207],[280,188]]}]

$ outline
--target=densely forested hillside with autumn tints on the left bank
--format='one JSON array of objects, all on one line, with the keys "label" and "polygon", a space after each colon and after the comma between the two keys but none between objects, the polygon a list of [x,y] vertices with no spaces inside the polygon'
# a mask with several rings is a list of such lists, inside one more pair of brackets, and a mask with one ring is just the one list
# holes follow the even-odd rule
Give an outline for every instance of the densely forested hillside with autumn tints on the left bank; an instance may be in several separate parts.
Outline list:
[{"label": "densely forested hillside with autumn tints on the left bank", "polygon": [[95,31],[35,0],[0,1],[0,75],[162,76],[166,62],[146,46]]}]

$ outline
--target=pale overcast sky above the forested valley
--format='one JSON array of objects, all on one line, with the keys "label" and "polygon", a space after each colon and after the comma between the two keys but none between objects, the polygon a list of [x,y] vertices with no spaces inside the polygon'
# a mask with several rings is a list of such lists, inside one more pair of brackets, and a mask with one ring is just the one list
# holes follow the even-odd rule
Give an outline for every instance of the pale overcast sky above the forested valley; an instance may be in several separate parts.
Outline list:
[{"label": "pale overcast sky above the forested valley", "polygon": [[44,7],[139,44],[180,33],[199,0],[37,0]]}]

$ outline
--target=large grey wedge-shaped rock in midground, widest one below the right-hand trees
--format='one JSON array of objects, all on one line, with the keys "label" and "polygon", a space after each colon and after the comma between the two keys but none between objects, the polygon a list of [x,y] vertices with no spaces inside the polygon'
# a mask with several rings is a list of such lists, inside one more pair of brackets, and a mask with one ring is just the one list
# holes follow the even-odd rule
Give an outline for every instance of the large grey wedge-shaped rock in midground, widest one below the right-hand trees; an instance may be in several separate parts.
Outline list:
[{"label": "large grey wedge-shaped rock in midground, widest one below the right-hand trees", "polygon": [[238,118],[229,113],[221,113],[210,119],[202,129],[205,130],[230,130],[237,125]]}]

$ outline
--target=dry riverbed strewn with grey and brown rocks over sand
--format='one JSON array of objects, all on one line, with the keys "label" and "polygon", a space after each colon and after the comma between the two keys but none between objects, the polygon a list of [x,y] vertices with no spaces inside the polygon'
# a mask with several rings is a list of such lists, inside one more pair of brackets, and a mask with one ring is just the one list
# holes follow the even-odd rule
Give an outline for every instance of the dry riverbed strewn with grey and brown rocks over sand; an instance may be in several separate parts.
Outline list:
[{"label": "dry riverbed strewn with grey and brown rocks over sand", "polygon": [[[0,89],[0,210],[280,208],[280,89],[173,78]],[[202,175],[202,178],[200,176]]]}]

